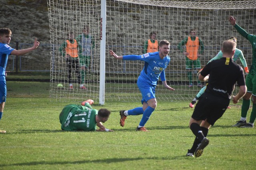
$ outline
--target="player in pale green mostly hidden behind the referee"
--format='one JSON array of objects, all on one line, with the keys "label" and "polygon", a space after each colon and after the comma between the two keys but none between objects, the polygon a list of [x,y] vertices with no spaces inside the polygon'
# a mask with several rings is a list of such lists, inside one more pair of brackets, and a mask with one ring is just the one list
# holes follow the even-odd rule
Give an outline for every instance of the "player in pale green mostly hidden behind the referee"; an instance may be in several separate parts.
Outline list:
[{"label": "player in pale green mostly hidden behind the referee", "polygon": [[[236,37],[230,37],[228,40],[232,40],[232,41],[234,41],[235,43],[237,42]],[[211,61],[217,60],[217,59],[221,59],[221,58],[222,58],[222,51],[218,52],[218,54],[217,54],[215,57],[213,57],[208,63],[210,63]],[[243,66],[244,66],[244,71],[245,71],[246,73],[248,73],[249,70],[248,70],[248,67],[247,67],[246,60],[245,60],[245,58],[244,58],[244,54],[243,54],[243,52],[242,52],[240,49],[237,49],[237,48],[236,48],[233,61],[236,62],[237,59],[240,59],[241,63],[242,63]],[[208,64],[208,63],[207,63],[207,64]],[[194,107],[194,105],[196,104],[196,101],[197,101],[198,98],[204,93],[205,89],[206,89],[206,86],[204,86],[204,87],[198,92],[198,94],[196,95],[196,97],[195,97],[195,98],[192,100],[192,102],[189,104],[189,107],[191,107],[191,108]],[[228,108],[230,108],[230,107],[228,107]]]}]

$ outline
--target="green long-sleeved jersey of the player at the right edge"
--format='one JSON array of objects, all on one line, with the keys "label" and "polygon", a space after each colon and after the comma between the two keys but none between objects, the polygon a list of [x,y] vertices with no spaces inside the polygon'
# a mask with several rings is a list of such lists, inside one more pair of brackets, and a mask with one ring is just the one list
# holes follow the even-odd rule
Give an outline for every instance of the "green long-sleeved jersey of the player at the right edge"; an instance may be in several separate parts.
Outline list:
[{"label": "green long-sleeved jersey of the player at the right edge", "polygon": [[237,24],[234,25],[234,27],[238,31],[238,33],[240,33],[243,37],[248,39],[252,45],[252,65],[251,65],[249,74],[256,75],[256,35],[247,33],[244,29],[242,29]]}]

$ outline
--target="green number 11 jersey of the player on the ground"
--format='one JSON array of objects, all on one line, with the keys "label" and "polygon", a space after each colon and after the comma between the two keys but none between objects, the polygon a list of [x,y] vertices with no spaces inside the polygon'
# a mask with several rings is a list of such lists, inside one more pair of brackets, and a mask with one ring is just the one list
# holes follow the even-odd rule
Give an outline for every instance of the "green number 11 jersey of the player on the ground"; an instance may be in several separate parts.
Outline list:
[{"label": "green number 11 jersey of the player on the ground", "polygon": [[61,129],[65,131],[95,131],[98,110],[70,104],[60,113]]}]

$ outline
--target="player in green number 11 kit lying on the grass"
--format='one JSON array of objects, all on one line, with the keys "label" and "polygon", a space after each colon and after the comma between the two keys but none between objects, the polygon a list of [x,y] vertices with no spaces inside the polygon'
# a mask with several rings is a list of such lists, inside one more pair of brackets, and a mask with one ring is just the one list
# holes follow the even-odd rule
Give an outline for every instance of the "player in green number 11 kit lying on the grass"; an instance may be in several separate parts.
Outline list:
[{"label": "player in green number 11 kit lying on the grass", "polygon": [[[64,131],[113,131],[106,129],[102,123],[108,120],[108,109],[92,109],[93,100],[82,102],[81,105],[65,106],[59,116],[61,129]],[[99,129],[96,129],[96,125]]]}]

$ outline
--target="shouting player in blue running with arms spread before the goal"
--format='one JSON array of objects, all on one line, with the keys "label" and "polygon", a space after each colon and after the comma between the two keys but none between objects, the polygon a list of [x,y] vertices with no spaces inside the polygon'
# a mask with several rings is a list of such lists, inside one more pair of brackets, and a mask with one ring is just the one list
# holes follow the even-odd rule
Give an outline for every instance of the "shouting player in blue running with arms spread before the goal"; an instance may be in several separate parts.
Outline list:
[{"label": "shouting player in blue running with arms spread before the goal", "polygon": [[141,115],[142,119],[136,129],[136,131],[148,131],[144,125],[148,121],[150,115],[156,109],[156,97],[155,89],[159,77],[162,80],[162,84],[165,88],[169,90],[174,90],[166,84],[165,72],[164,70],[170,63],[170,57],[168,53],[170,51],[170,43],[166,40],[162,40],[159,43],[159,51],[154,53],[146,53],[143,55],[124,55],[118,56],[112,50],[109,54],[116,59],[122,60],[140,60],[144,61],[145,65],[143,70],[140,72],[138,77],[137,85],[142,94],[142,107],[136,107],[131,110],[121,110],[120,111],[120,125],[124,126],[124,121],[128,115]]}]

